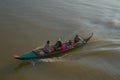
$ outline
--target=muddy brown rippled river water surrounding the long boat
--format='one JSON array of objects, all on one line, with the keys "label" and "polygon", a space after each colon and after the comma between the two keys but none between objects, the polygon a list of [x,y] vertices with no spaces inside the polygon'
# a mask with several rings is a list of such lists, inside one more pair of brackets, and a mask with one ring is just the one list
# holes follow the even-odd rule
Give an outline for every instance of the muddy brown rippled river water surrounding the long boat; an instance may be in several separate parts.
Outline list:
[{"label": "muddy brown rippled river water surrounding the long boat", "polygon": [[[0,79],[119,80],[119,7],[119,0],[1,0]],[[62,59],[33,66],[12,58],[47,40],[55,43],[59,37],[66,41],[92,32],[87,45]]]}]

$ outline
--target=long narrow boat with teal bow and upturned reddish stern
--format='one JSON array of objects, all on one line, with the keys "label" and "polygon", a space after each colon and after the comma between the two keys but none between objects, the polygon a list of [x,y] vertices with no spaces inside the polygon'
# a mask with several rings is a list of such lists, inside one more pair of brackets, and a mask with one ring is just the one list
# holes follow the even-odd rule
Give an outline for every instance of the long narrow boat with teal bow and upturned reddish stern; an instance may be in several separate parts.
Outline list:
[{"label": "long narrow boat with teal bow and upturned reddish stern", "polygon": [[43,49],[43,48],[40,48],[38,50],[33,50],[33,51],[28,52],[28,53],[25,53],[21,56],[13,55],[13,57],[15,59],[19,59],[19,60],[31,60],[31,59],[44,59],[44,58],[62,56],[68,51],[72,51],[74,49],[77,49],[79,47],[84,46],[91,39],[92,36],[93,36],[93,33],[90,34],[90,36],[88,38],[80,40],[79,42],[73,44],[72,47],[67,48],[65,50],[58,50],[58,51],[54,51],[52,53],[47,53],[47,54],[44,54],[44,55],[40,55],[38,53],[39,53],[39,51],[41,51]]}]

